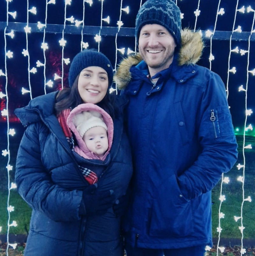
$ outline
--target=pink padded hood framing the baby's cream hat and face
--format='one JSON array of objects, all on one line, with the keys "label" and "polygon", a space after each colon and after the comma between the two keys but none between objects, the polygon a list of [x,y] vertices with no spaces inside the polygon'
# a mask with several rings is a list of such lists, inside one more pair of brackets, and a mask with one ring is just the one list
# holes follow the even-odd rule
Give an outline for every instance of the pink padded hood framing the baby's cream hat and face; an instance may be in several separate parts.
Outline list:
[{"label": "pink padded hood framing the baby's cream hat and face", "polygon": [[[107,131],[107,133],[108,133],[108,149],[105,152],[105,154],[101,157],[98,157],[94,152],[91,152],[88,150],[86,144],[84,143],[82,137],[80,136],[79,132],[77,131],[77,129],[73,123],[73,118],[76,114],[78,114],[82,111],[89,111],[89,110],[99,112],[102,115],[102,118],[108,128],[108,131]],[[69,128],[71,129],[71,131],[74,133],[74,135],[76,137],[78,146],[75,146],[74,150],[79,155],[83,156],[86,159],[100,159],[100,160],[106,159],[106,156],[109,153],[109,151],[112,147],[112,144],[113,144],[113,120],[107,112],[105,112],[102,108],[100,108],[97,105],[92,104],[92,103],[80,104],[70,112],[70,114],[67,118],[67,125],[69,126]]]}]

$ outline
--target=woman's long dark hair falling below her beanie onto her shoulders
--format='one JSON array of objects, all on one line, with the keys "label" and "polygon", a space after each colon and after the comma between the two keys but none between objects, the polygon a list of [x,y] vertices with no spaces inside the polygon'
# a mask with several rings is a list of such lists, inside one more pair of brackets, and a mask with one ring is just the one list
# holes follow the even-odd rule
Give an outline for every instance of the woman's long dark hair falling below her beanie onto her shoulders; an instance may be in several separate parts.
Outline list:
[{"label": "woman's long dark hair falling below her beanie onto her shoulders", "polygon": [[[73,109],[78,105],[84,103],[78,91],[79,75],[80,74],[77,75],[71,88],[64,88],[57,94],[54,105],[56,116],[58,116],[64,109]],[[110,95],[109,93],[109,88],[110,86],[108,86],[106,96],[96,105],[104,109],[114,119],[115,115],[119,112],[119,110],[117,105],[115,104],[113,95]]]}]

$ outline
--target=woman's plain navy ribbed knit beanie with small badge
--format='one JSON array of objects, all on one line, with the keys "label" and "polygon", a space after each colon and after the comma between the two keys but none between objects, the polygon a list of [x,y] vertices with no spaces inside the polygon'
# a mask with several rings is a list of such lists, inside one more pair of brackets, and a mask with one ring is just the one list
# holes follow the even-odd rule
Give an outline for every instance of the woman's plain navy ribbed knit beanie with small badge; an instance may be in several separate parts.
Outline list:
[{"label": "woman's plain navy ribbed knit beanie with small badge", "polygon": [[110,60],[101,52],[97,50],[83,50],[79,52],[73,59],[69,69],[69,86],[72,87],[76,77],[80,72],[89,66],[98,66],[103,68],[109,80],[110,87],[113,82],[113,67]]}]

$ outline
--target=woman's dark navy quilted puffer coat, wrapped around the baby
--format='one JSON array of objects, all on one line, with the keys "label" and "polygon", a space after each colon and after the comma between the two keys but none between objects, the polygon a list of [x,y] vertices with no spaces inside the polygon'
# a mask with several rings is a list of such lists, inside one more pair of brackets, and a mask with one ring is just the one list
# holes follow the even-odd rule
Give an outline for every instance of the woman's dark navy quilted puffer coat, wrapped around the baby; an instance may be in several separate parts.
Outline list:
[{"label": "woman's dark navy quilted puffer coat, wrapped around the baby", "polygon": [[92,171],[102,168],[99,191],[113,190],[116,198],[125,194],[132,159],[123,118],[113,121],[113,144],[104,162],[75,156],[54,114],[56,94],[36,97],[15,111],[27,126],[18,150],[15,181],[19,194],[33,209],[25,256],[122,256],[120,217],[113,208],[101,216],[79,214],[82,193],[89,184],[78,164]]}]

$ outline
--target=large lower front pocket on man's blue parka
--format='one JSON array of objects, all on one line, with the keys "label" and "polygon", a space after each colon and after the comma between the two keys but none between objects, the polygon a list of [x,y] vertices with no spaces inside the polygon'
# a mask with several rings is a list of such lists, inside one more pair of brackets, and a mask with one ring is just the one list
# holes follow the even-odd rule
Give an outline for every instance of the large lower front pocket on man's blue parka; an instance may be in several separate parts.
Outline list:
[{"label": "large lower front pocket on man's blue parka", "polygon": [[176,176],[157,188],[153,200],[149,234],[156,237],[184,237],[193,232],[191,202],[182,195]]}]

